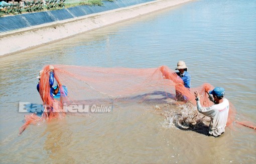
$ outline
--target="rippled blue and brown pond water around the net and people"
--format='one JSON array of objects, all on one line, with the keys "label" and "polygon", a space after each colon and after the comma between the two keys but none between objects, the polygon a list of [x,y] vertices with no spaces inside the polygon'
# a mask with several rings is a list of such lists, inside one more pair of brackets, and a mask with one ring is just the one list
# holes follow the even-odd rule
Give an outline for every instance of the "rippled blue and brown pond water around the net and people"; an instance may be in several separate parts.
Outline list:
[{"label": "rippled blue and brown pond water around the net and people", "polygon": [[255,122],[255,8],[253,0],[197,0],[0,58],[1,163],[255,163],[255,131],[226,128],[213,138],[181,130],[151,104],[68,115],[17,136],[24,116],[18,102],[42,103],[36,76],[46,64],[174,69],[185,60],[192,87],[224,87],[237,119]]}]

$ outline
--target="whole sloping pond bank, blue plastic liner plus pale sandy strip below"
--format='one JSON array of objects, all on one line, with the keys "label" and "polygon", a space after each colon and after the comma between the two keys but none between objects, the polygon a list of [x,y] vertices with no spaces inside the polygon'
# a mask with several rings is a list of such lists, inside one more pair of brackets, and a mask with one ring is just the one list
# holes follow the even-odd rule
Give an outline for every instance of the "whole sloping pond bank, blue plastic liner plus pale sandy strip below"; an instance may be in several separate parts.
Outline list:
[{"label": "whole sloping pond bank, blue plastic liner plus pale sandy strip below", "polygon": [[187,1],[191,0],[103,1],[103,6],[80,5],[0,17],[0,56],[35,48]]}]

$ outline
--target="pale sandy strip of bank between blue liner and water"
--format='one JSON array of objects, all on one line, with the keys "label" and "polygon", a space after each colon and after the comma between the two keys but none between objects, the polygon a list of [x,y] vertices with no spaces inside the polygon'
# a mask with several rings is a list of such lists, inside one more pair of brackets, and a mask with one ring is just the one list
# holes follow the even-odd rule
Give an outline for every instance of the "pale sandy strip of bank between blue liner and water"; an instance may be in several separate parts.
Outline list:
[{"label": "pale sandy strip of bank between blue liner and water", "polygon": [[125,8],[85,15],[0,33],[0,56],[34,48],[81,32],[96,29],[192,0],[156,0]]}]

